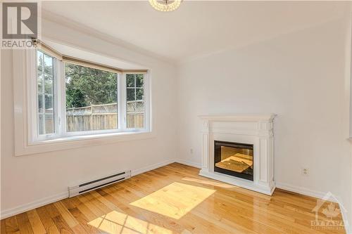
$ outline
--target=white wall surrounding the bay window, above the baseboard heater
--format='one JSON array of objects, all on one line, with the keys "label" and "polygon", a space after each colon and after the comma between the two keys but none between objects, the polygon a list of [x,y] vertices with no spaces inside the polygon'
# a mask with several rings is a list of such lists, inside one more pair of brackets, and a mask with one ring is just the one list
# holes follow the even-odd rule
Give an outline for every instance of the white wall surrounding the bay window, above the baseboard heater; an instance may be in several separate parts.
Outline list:
[{"label": "white wall surrounding the bay window, above the baseboard heater", "polygon": [[[1,212],[67,193],[69,185],[125,169],[144,169],[175,159],[175,67],[54,22],[46,37],[150,67],[156,137],[38,155],[14,156],[12,53],[1,51]],[[94,45],[94,46],[92,46]]]}]

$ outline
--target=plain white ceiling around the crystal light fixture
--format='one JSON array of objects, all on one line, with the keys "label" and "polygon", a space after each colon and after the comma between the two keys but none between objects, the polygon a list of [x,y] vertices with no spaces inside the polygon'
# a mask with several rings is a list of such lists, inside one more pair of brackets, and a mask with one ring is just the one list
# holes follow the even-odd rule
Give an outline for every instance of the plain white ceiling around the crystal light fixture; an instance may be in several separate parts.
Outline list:
[{"label": "plain white ceiling around the crystal light fixture", "polygon": [[148,1],[44,1],[54,13],[180,63],[300,30],[348,11],[342,1],[183,1],[155,11]]}]

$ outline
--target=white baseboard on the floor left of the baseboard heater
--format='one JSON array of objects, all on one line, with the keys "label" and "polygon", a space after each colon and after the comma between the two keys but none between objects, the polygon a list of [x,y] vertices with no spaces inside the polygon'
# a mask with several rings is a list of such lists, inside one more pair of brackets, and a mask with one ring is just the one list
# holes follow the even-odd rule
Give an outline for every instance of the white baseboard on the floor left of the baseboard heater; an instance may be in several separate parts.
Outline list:
[{"label": "white baseboard on the floor left of the baseboard heater", "polygon": [[5,219],[7,217],[20,214],[23,212],[27,212],[31,209],[35,209],[38,207],[42,207],[46,204],[50,204],[53,202],[57,202],[58,200],[63,200],[68,197],[68,191],[65,193],[58,193],[57,195],[52,195],[49,197],[45,197],[39,200],[35,200],[34,202],[30,202],[27,204],[20,205],[18,207],[13,207],[11,209],[6,209],[4,211],[1,211],[0,219]]}]

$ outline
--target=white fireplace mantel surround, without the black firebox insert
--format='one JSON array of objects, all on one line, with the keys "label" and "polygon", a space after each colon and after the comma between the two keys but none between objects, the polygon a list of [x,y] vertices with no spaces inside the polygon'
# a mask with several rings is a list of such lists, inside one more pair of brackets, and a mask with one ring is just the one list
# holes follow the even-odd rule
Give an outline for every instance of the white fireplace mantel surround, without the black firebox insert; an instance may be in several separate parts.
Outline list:
[{"label": "white fireplace mantel surround, without the black firebox insert", "polygon": [[[199,175],[272,195],[274,181],[274,114],[201,115],[202,164]],[[253,145],[253,181],[214,171],[214,141]]]}]

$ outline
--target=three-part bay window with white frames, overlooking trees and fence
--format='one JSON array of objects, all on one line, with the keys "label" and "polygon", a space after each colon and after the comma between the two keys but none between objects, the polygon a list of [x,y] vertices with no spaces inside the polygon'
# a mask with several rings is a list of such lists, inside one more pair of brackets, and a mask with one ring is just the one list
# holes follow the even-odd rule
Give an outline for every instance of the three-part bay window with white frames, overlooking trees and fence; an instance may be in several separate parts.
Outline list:
[{"label": "three-part bay window with white frames, overlooking trees and fence", "polygon": [[40,47],[30,100],[33,143],[149,131],[146,70],[121,70]]}]

